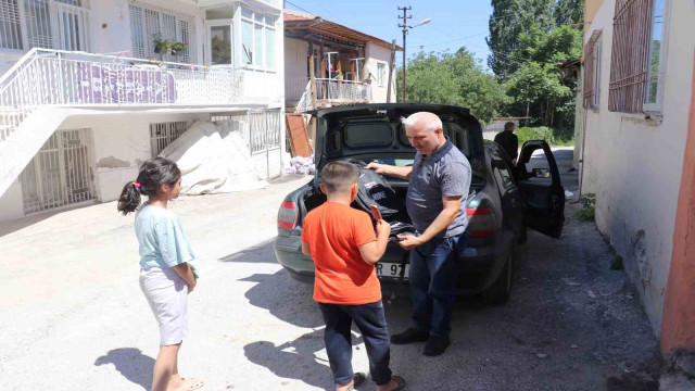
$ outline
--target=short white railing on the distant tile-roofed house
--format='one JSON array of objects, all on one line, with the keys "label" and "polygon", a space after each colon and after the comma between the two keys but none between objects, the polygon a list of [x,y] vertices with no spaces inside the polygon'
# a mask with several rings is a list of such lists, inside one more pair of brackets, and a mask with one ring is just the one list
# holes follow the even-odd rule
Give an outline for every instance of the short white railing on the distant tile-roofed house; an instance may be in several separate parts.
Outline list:
[{"label": "short white railing on the distant tile-roofed house", "polygon": [[[369,84],[352,80],[337,80],[317,78],[316,100],[329,104],[345,104],[354,102],[371,102],[371,86]],[[304,112],[312,108],[311,80],[304,88],[304,93],[296,105],[296,111]]]}]

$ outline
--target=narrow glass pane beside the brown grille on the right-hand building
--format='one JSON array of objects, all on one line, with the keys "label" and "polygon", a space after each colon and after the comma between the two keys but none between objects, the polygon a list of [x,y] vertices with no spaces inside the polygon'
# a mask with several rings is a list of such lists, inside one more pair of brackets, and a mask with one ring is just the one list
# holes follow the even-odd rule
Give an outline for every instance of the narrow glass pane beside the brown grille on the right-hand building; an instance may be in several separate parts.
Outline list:
[{"label": "narrow glass pane beside the brown grille on the right-hand building", "polygon": [[658,105],[660,103],[659,89],[664,74],[664,0],[653,1],[649,65],[647,66],[647,86],[645,91],[646,96],[644,97],[645,110],[658,110]]}]

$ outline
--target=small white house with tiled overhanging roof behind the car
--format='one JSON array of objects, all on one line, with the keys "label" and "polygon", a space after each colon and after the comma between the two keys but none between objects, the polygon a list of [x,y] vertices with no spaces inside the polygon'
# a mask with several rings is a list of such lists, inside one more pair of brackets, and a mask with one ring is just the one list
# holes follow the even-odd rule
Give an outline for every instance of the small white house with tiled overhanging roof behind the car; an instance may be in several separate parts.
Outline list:
[{"label": "small white house with tiled overhanging roof behind the car", "polygon": [[[285,10],[285,91],[288,112],[316,106],[384,103],[389,93],[392,42],[357,31],[321,16]],[[396,51],[403,50],[395,46]],[[313,62],[313,64],[311,64]],[[391,66],[389,65],[391,64]],[[395,102],[395,75],[391,79]]]}]

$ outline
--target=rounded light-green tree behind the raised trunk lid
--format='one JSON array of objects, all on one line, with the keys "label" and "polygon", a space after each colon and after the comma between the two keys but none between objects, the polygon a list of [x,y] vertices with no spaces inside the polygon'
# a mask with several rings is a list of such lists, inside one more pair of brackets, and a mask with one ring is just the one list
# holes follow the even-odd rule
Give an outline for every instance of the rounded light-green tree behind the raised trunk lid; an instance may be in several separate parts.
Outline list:
[{"label": "rounded light-green tree behind the raised trunk lid", "polygon": [[[408,61],[406,71],[408,102],[466,106],[481,122],[490,122],[507,103],[503,86],[465,48],[453,54],[419,52]],[[396,83],[399,99],[402,83],[401,70]]]}]

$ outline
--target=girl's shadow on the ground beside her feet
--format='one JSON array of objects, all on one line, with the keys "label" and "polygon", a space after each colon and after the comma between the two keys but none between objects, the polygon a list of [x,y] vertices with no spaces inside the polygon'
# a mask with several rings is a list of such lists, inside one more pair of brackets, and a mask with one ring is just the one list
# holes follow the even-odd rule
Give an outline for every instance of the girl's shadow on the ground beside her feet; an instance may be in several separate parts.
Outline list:
[{"label": "girl's shadow on the ground beside her feet", "polygon": [[152,370],[154,358],[142,354],[142,351],[135,348],[119,348],[109,351],[105,355],[97,358],[96,366],[113,364],[116,370],[130,382],[139,384],[146,390],[152,383]]}]

